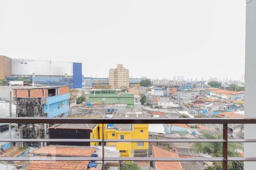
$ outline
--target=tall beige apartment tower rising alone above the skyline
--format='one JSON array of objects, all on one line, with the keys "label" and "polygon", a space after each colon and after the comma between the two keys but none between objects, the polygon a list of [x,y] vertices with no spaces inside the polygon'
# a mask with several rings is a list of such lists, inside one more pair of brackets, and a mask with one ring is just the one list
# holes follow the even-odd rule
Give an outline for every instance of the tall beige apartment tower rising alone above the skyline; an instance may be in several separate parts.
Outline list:
[{"label": "tall beige apartment tower rising alone above the skyline", "polygon": [[118,64],[116,69],[109,70],[110,88],[129,87],[129,69],[125,69],[122,64]]}]

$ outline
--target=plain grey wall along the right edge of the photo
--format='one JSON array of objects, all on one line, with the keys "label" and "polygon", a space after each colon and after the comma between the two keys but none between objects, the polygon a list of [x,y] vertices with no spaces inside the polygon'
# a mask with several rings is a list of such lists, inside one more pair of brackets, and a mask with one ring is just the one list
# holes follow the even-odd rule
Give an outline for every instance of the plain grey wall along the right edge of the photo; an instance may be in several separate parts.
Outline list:
[{"label": "plain grey wall along the right edge of the photo", "polygon": [[[256,117],[256,1],[246,1],[245,117]],[[256,125],[245,125],[245,139],[256,139]],[[256,143],[245,143],[245,157],[256,157]],[[256,162],[245,162],[254,170]]]}]

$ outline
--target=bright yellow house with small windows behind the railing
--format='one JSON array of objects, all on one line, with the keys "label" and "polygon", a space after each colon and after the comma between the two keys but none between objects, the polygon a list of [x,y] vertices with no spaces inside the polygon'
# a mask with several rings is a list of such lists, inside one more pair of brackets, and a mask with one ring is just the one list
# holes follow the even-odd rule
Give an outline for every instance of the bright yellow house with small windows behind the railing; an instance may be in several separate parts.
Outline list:
[{"label": "bright yellow house with small windows behind the railing", "polygon": [[[102,124],[99,125],[102,139]],[[148,139],[147,124],[108,124],[104,127],[105,139]],[[137,150],[148,150],[148,142],[107,142],[106,146],[115,146],[121,157],[133,157]]]}]

